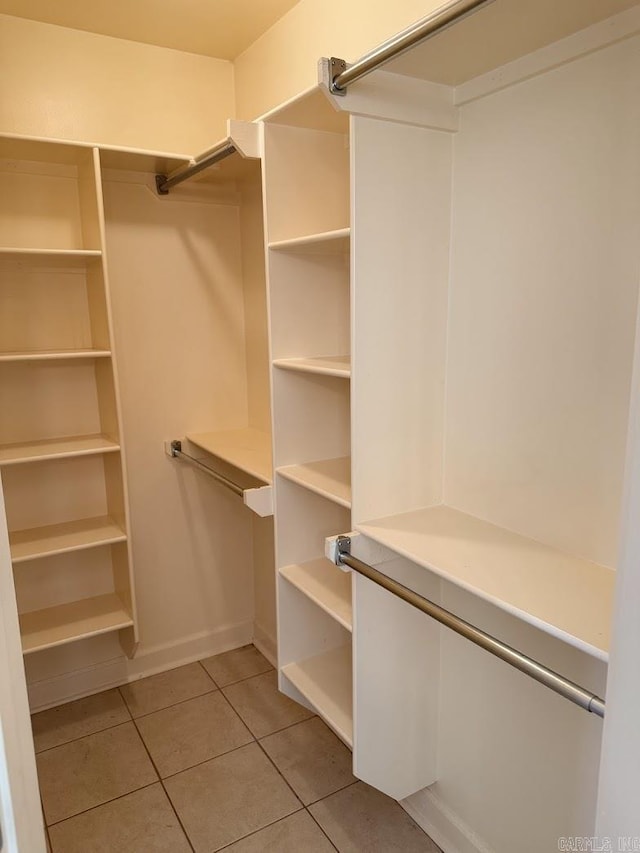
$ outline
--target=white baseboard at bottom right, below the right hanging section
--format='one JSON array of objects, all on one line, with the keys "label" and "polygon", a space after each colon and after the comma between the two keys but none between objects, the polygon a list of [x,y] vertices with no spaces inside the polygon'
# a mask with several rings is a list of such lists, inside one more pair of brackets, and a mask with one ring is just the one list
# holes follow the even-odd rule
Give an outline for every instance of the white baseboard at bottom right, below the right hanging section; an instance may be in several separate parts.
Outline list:
[{"label": "white baseboard at bottom right, below the right hanging section", "polygon": [[444,853],[495,853],[429,788],[401,800],[400,805]]}]

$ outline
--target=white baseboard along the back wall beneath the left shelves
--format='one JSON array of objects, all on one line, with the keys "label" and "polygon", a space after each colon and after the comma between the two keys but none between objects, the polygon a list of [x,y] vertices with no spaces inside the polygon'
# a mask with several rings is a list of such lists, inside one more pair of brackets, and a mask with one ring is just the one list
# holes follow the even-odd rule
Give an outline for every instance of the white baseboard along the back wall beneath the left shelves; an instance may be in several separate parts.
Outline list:
[{"label": "white baseboard along the back wall beneath the left shelves", "polygon": [[250,643],[253,633],[253,622],[226,625],[214,631],[202,631],[184,637],[175,643],[148,648],[141,646],[133,660],[124,656],[117,657],[53,678],[32,682],[27,685],[31,712],[43,711],[129,681],[237,649]]}]

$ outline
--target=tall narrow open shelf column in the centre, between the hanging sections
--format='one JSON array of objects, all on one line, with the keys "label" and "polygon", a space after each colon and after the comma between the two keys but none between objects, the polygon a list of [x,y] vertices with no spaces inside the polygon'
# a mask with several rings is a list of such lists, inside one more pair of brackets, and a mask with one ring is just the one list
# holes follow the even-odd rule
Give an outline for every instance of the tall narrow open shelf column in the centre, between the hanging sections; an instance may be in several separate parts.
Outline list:
[{"label": "tall narrow open shelf column in the centre, between the hanging sections", "polygon": [[353,744],[349,125],[315,91],[264,123],[280,688]]}]

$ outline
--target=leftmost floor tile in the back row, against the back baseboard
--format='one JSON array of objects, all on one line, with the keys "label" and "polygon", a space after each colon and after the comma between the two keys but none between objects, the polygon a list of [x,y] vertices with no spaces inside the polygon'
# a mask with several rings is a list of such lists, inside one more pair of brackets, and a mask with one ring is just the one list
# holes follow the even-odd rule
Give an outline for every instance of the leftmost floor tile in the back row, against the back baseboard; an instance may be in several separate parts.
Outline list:
[{"label": "leftmost floor tile in the back row, against the back baseboard", "polygon": [[106,690],[40,711],[31,717],[36,752],[100,732],[131,719],[117,690]]}]

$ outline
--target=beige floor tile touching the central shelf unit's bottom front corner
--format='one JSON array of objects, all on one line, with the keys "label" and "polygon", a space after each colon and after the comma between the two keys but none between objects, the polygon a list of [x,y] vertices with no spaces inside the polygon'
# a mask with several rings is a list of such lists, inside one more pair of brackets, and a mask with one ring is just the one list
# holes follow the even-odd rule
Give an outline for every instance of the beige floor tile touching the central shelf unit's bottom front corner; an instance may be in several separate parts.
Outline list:
[{"label": "beige floor tile touching the central shelf unit's bottom front corner", "polygon": [[260,743],[305,805],[356,781],[351,753],[319,717]]}]

